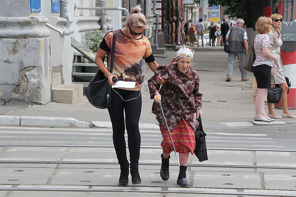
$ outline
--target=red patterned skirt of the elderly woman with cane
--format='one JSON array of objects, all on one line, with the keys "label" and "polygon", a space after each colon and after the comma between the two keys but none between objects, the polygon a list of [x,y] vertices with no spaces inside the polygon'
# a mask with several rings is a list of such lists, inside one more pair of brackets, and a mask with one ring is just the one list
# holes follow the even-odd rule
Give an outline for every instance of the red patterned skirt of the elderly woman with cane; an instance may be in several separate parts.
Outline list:
[{"label": "red patterned skirt of the elderly woman with cane", "polygon": [[[171,143],[169,134],[167,133],[167,128],[160,126],[160,132],[162,135],[161,147],[164,153],[171,153],[174,148]],[[176,152],[178,153],[188,153],[193,155],[195,150],[195,134],[192,130],[190,124],[183,118],[180,120],[178,125],[171,131],[171,137],[175,145]]]}]

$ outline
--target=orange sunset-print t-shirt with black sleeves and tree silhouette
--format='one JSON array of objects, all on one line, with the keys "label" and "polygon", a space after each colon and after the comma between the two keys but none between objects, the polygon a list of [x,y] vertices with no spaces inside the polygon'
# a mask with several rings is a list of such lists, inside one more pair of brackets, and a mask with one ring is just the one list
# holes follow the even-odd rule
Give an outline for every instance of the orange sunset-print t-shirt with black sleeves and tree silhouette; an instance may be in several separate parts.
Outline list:
[{"label": "orange sunset-print t-shirt with black sleeves and tree silhouette", "polygon": [[[147,63],[155,60],[150,42],[144,35],[137,39],[131,39],[123,34],[120,29],[115,30],[115,33],[116,41],[112,73],[116,74],[120,81],[136,82],[134,88],[120,89],[141,90],[143,58]],[[108,70],[110,70],[112,41],[113,33],[108,33],[100,44],[100,48],[108,52]]]}]

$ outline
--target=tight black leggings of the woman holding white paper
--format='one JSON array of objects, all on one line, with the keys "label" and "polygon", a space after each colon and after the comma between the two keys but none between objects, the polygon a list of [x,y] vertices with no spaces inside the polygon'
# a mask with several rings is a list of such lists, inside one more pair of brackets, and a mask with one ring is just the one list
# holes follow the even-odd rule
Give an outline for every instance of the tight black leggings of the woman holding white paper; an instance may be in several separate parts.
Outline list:
[{"label": "tight black leggings of the woman holding white paper", "polygon": [[[142,110],[141,91],[130,91],[114,88],[124,100],[112,89],[111,107],[108,108],[113,129],[113,144],[121,169],[138,168],[140,159],[141,135],[139,120]],[[124,111],[124,112],[123,112]],[[125,114],[124,114],[125,113]],[[125,127],[127,131],[128,147],[130,152],[130,165],[126,157]]]}]

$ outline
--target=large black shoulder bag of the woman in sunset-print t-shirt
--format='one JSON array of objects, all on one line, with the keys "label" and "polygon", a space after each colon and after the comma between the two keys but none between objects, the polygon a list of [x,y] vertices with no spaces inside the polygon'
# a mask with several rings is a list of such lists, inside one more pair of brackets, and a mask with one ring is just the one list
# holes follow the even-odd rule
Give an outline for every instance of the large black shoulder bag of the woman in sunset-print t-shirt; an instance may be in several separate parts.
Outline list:
[{"label": "large black shoulder bag of the woman in sunset-print t-shirt", "polygon": [[[115,52],[115,39],[116,35],[113,32],[112,54],[110,62],[110,72],[113,70],[114,52]],[[108,83],[108,78],[105,74],[98,70],[95,76],[90,80],[85,95],[89,103],[99,109],[106,109],[111,106],[111,85]]]}]

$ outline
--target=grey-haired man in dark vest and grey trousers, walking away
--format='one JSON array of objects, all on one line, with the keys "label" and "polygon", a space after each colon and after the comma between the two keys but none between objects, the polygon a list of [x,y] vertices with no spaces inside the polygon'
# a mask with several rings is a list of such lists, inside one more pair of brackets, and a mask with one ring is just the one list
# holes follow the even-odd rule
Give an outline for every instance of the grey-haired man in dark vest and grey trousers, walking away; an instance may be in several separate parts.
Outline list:
[{"label": "grey-haired man in dark vest and grey trousers, walking away", "polygon": [[239,68],[241,71],[241,81],[249,81],[247,71],[243,69],[242,64],[245,59],[245,51],[248,51],[248,36],[246,30],[243,28],[245,21],[241,18],[236,20],[236,26],[229,29],[226,35],[226,41],[229,42],[228,66],[226,81],[231,81],[233,73],[233,64],[237,56]]}]

